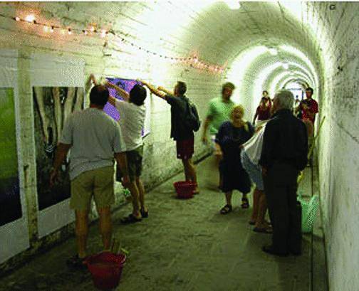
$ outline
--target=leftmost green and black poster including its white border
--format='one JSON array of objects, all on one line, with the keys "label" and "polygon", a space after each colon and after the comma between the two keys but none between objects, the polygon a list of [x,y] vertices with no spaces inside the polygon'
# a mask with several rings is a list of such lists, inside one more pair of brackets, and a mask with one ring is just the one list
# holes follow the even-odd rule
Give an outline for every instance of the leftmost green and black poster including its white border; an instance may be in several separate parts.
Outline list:
[{"label": "leftmost green and black poster including its white border", "polygon": [[0,263],[29,247],[18,61],[17,51],[0,50]]}]

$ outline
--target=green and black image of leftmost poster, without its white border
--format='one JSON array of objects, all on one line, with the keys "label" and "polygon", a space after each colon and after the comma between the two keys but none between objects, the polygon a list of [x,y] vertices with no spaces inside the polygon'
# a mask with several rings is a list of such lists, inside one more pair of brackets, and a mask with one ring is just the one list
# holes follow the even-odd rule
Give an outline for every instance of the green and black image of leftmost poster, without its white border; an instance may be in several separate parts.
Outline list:
[{"label": "green and black image of leftmost poster, without its white border", "polygon": [[0,226],[22,217],[14,89],[0,88]]}]

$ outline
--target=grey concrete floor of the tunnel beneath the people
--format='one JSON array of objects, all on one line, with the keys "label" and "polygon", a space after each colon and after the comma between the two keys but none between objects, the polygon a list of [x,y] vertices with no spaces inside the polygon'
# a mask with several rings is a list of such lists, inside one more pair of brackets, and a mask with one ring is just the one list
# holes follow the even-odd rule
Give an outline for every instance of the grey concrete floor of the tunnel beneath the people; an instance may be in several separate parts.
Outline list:
[{"label": "grey concrete floor of the tunnel beneath the people", "polygon": [[[311,170],[306,171],[300,191],[311,194]],[[322,290],[313,288],[311,235],[303,236],[299,257],[263,253],[261,246],[271,242],[271,235],[252,231],[251,208],[239,207],[239,193],[233,197],[234,211],[219,214],[224,195],[216,189],[212,158],[198,164],[197,173],[201,193],[193,199],[175,198],[172,183],[182,180],[180,174],[147,194],[150,217],[144,221],[120,224],[130,205],[113,213],[115,237],[130,251],[117,290]],[[90,228],[88,245],[92,252],[101,250],[97,223]],[[74,252],[75,239],[70,238],[1,278],[0,291],[95,290],[87,271],[66,267]]]}]

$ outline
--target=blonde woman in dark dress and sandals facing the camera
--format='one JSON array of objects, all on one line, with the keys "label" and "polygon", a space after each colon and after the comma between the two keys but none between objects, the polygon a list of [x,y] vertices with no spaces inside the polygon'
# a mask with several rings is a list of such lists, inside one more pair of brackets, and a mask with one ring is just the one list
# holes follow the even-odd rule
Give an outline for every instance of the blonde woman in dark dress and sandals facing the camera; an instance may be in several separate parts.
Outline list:
[{"label": "blonde woman in dark dress and sandals facing the camera", "polygon": [[241,144],[254,134],[254,127],[243,120],[244,108],[236,105],[231,111],[231,121],[223,122],[216,135],[217,146],[222,152],[219,172],[222,175],[221,189],[226,195],[226,205],[222,214],[232,211],[231,196],[233,190],[239,190],[242,196],[242,208],[249,207],[246,194],[251,191],[251,179],[241,165]]}]

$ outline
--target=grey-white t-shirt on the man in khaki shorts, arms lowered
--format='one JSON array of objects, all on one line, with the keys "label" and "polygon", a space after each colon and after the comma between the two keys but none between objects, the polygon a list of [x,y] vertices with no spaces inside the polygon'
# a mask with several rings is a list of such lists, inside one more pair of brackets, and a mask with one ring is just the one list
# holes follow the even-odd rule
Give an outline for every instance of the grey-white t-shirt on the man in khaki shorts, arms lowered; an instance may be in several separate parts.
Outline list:
[{"label": "grey-white t-shirt on the man in khaki shorts, arms lowered", "polygon": [[113,166],[113,154],[126,151],[118,123],[96,108],[70,115],[59,142],[71,144],[71,180],[85,171]]}]

